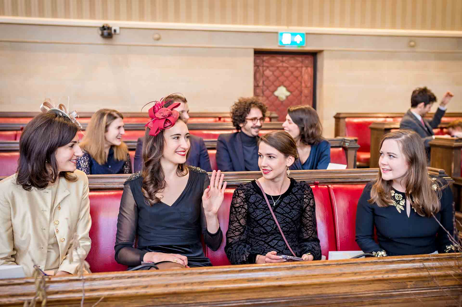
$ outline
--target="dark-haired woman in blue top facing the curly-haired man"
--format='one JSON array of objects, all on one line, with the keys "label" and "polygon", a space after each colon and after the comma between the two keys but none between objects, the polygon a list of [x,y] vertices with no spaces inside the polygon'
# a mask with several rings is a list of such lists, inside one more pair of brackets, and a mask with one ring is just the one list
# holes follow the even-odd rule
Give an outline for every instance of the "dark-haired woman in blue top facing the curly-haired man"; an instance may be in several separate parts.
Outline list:
[{"label": "dark-haired woman in blue top facing the curly-haired man", "polygon": [[282,124],[297,143],[298,159],[291,170],[325,170],[330,163],[330,143],[322,137],[322,125],[315,109],[291,106]]}]

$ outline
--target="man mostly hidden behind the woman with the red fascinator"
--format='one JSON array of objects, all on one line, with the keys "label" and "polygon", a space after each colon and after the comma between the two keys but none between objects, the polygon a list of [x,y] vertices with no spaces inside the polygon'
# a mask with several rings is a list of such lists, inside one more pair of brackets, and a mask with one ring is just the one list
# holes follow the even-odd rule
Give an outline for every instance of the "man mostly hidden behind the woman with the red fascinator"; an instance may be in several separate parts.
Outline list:
[{"label": "man mostly hidden behind the woman with the red fascinator", "polygon": [[[177,106],[175,110],[180,113],[181,117],[187,124],[189,119],[189,107],[186,98],[182,95],[174,94],[166,97],[166,99],[168,102],[164,105],[164,107],[168,107],[174,102],[180,103],[180,106]],[[143,143],[144,136],[140,137],[136,143],[136,151],[133,161],[135,173],[143,169],[143,157],[141,155],[143,151]],[[208,156],[204,139],[198,136],[190,135],[189,143],[191,147],[189,148],[189,157],[186,160],[186,164],[200,167],[204,171],[212,171],[212,166],[210,165],[210,158]]]}]

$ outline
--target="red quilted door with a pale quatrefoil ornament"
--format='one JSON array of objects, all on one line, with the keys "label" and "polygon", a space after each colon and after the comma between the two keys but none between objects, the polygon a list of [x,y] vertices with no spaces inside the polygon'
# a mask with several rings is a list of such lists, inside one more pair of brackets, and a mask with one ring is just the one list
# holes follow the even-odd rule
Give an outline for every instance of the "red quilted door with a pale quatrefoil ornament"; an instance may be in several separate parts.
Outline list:
[{"label": "red quilted door with a pale quatrefoil ornament", "polygon": [[268,111],[285,121],[287,107],[313,106],[314,55],[307,53],[255,53],[254,95]]}]

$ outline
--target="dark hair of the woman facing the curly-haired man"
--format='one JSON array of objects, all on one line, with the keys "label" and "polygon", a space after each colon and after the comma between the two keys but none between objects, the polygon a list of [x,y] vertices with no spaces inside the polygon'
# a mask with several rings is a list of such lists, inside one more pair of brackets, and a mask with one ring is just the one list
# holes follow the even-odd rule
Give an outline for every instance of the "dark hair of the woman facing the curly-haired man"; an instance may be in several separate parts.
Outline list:
[{"label": "dark hair of the woman facing the curly-haired man", "polygon": [[287,113],[300,128],[300,142],[313,145],[323,140],[321,121],[315,109],[311,106],[291,106],[287,108]]}]

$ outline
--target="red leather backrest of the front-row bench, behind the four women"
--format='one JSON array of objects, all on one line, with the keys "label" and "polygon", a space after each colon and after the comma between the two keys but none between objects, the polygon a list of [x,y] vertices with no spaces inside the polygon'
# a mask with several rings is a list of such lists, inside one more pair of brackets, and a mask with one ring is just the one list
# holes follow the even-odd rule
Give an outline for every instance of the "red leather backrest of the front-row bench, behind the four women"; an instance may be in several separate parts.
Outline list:
[{"label": "red leather backrest of the front-row bench, behind the four women", "polygon": [[[355,242],[356,207],[364,184],[312,185],[316,200],[316,222],[322,254],[328,251],[359,250]],[[229,208],[234,189],[226,189],[223,204],[218,212],[221,230],[226,235]],[[122,190],[91,191],[90,230],[91,250],[86,260],[91,272],[111,272],[126,270],[126,266],[114,260],[117,216]],[[217,251],[205,248],[205,254],[214,266],[229,265],[225,254],[225,236]]]}]

